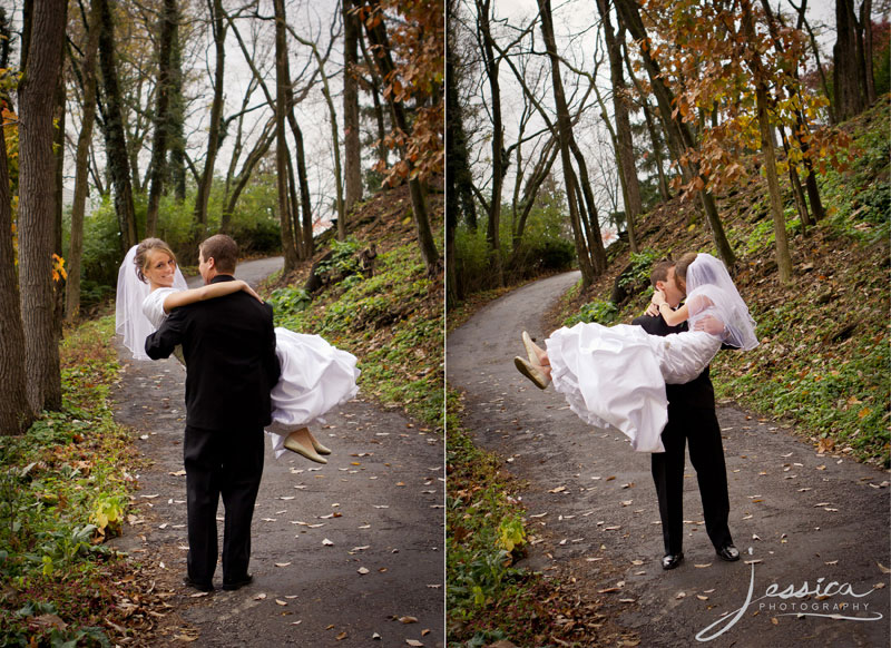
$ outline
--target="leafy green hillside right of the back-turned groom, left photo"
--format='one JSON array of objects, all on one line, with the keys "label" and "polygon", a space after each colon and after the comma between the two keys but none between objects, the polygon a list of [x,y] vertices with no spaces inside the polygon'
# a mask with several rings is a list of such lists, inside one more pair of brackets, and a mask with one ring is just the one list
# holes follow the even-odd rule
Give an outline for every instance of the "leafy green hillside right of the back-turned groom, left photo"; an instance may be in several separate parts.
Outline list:
[{"label": "leafy green hillside right of the back-turned groom, left photo", "polygon": [[[434,233],[441,232],[443,197],[431,193],[429,199]],[[309,264],[267,282],[264,295],[275,307],[275,324],[317,333],[350,351],[362,370],[362,394],[388,408],[403,408],[441,430],[444,289],[441,275],[427,275],[408,187],[373,196],[354,213],[347,229],[343,243],[333,238],[333,232],[319,243],[315,261],[334,251],[327,266],[335,281],[312,301],[302,287]],[[356,254],[371,244],[378,252],[374,275],[364,278],[353,271]]]}]

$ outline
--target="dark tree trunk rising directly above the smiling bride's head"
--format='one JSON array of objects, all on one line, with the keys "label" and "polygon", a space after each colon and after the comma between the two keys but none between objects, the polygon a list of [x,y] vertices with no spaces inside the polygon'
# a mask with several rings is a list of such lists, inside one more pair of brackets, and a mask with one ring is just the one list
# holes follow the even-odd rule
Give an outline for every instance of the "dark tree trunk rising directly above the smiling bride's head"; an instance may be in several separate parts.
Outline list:
[{"label": "dark tree trunk rising directly above the smiling bride's head", "polygon": [[173,62],[174,33],[179,19],[176,0],[164,0],[160,14],[160,41],[158,43],[158,81],[155,89],[155,138],[151,143],[151,161],[149,163],[150,185],[148,190],[148,208],[146,210],[146,236],[155,236],[158,225],[158,207],[164,192],[164,177],[167,175],[167,141],[170,116],[170,65]]}]

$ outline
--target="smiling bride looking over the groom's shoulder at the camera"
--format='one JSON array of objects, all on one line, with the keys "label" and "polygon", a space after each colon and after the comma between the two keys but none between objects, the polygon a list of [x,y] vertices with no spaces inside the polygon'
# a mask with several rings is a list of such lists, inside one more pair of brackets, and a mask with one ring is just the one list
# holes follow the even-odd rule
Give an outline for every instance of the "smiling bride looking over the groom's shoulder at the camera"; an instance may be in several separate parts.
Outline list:
[{"label": "smiling bride looking over the groom's shoulder at the camera", "polygon": [[[245,282],[223,282],[188,288],[176,256],[159,238],[146,238],[133,246],[118,271],[115,330],[136,360],[149,360],[145,341],[174,308],[237,291],[261,297]],[[262,301],[262,300],[261,300]],[[324,423],[323,415],[355,396],[359,370],[352,354],[331,346],[319,335],[275,328],[275,353],[282,369],[272,390],[271,435],[276,459],[291,450],[319,463],[331,450],[310,432],[309,425]],[[182,355],[177,357],[183,362]]]}]

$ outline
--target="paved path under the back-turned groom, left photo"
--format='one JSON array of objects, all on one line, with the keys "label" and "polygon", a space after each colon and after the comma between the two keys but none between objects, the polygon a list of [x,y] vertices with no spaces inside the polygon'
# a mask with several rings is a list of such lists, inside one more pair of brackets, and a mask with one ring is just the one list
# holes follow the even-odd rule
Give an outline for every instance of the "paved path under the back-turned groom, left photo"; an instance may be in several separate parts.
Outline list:
[{"label": "paved path under the back-turned groom, left photo", "polygon": [[[253,264],[265,263],[242,264],[236,276],[254,283],[270,269],[255,272]],[[157,588],[173,606],[147,645],[444,645],[439,434],[364,402],[360,392],[315,430],[334,451],[326,465],[292,453],[275,460],[267,446],[253,524],[254,583],[224,592],[218,569],[217,590],[196,597],[180,585],[185,370],[175,360],[128,360],[118,348],[116,420],[135,430],[134,451],[149,468],[139,475],[135,524],[117,543],[155,567]]]}]

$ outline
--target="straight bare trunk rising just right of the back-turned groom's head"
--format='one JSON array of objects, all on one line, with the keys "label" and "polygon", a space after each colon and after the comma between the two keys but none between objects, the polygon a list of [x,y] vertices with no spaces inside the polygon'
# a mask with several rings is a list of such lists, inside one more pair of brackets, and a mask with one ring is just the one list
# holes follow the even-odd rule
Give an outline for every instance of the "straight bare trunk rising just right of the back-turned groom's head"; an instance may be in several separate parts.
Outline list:
[{"label": "straight bare trunk rising just right of the back-turned groom's head", "polygon": [[282,225],[282,249],[285,265],[283,275],[297,267],[297,248],[291,229],[287,209],[287,141],[285,139],[285,112],[287,111],[287,39],[285,31],[285,3],[275,0],[275,180],[278,192],[278,220]]}]

